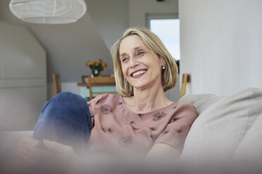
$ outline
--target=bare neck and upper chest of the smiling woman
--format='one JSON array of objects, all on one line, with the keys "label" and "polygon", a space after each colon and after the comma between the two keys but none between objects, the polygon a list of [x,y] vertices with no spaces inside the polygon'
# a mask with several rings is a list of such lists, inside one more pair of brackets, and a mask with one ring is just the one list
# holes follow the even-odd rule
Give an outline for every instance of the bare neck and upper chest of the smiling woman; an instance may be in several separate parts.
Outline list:
[{"label": "bare neck and upper chest of the smiling woman", "polygon": [[125,98],[124,102],[133,112],[139,114],[167,107],[173,103],[164,95],[162,86],[144,90],[134,88],[134,96]]}]

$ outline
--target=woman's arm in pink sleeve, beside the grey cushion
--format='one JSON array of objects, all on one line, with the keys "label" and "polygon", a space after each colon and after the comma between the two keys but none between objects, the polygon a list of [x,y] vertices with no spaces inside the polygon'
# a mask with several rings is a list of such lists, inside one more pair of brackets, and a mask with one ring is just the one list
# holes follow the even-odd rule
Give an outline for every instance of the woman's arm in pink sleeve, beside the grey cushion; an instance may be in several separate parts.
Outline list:
[{"label": "woman's arm in pink sleeve, beside the grey cushion", "polygon": [[197,118],[197,111],[188,103],[180,103],[177,108],[179,110],[174,114],[173,121],[158,136],[146,159],[179,159],[187,134]]}]

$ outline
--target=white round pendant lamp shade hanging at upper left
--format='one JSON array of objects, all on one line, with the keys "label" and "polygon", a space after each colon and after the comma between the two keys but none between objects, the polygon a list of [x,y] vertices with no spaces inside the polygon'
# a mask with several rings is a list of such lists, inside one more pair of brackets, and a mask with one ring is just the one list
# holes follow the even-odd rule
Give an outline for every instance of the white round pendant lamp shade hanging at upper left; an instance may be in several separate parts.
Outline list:
[{"label": "white round pendant lamp shade hanging at upper left", "polygon": [[11,0],[9,8],[20,20],[39,24],[76,22],[87,11],[84,0]]}]

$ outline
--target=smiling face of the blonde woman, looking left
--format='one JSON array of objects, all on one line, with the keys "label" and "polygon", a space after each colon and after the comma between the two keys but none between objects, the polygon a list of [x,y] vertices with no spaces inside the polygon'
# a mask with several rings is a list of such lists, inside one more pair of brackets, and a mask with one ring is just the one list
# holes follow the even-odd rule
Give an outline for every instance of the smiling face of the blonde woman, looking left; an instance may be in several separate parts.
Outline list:
[{"label": "smiling face of the blonde woman, looking left", "polygon": [[146,47],[136,34],[127,36],[120,44],[120,62],[125,79],[137,89],[162,86],[163,58]]}]

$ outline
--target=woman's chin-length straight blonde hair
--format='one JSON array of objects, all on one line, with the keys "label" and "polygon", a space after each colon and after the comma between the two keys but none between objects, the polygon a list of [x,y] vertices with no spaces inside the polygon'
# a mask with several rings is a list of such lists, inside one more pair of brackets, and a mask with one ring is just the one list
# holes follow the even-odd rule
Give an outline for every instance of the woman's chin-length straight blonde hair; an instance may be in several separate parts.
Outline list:
[{"label": "woman's chin-length straight blonde hair", "polygon": [[139,36],[149,50],[153,51],[166,61],[165,69],[163,69],[162,72],[163,91],[168,91],[170,88],[175,87],[175,84],[177,83],[177,65],[173,57],[166,49],[166,46],[164,46],[158,36],[156,36],[156,34],[151,32],[149,29],[132,27],[125,30],[123,36],[118,39],[118,41],[116,41],[111,48],[113,70],[116,79],[116,90],[118,91],[118,94],[122,96],[134,95],[132,86],[123,75],[119,53],[120,44],[123,39],[133,34]]}]

